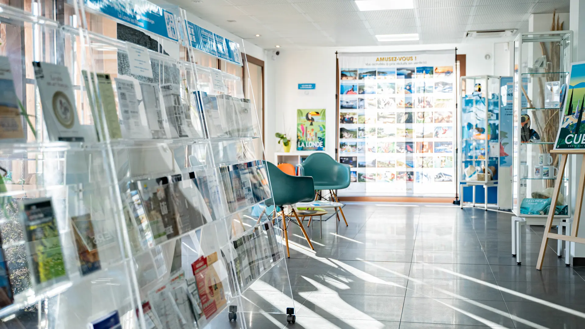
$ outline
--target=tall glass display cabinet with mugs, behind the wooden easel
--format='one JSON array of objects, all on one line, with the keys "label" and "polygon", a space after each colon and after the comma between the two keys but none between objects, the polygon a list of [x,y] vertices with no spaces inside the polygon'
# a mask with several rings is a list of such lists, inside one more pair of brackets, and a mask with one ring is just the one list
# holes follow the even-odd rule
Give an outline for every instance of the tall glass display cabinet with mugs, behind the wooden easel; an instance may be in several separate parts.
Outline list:
[{"label": "tall glass display cabinet with mugs, behind the wooden easel", "polygon": [[[552,196],[558,174],[558,158],[550,150],[554,147],[568,90],[572,39],[571,31],[551,31],[521,33],[514,41],[512,255],[517,256],[517,263],[521,263],[520,225],[543,225],[549,211],[540,200]],[[553,223],[560,227],[569,225],[572,211],[567,197],[570,162],[567,166]],[[559,257],[562,256],[560,243]],[[568,257],[565,262],[569,262]]]}]

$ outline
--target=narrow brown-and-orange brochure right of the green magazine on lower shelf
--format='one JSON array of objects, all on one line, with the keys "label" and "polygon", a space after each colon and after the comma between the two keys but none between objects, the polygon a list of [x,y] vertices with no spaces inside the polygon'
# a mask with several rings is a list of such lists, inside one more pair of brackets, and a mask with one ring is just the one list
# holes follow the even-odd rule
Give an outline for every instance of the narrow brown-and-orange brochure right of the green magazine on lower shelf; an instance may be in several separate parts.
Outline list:
[{"label": "narrow brown-and-orange brochure right of the green magazine on lower shelf", "polygon": [[79,255],[81,275],[88,275],[101,269],[91,214],[71,217],[71,224]]}]

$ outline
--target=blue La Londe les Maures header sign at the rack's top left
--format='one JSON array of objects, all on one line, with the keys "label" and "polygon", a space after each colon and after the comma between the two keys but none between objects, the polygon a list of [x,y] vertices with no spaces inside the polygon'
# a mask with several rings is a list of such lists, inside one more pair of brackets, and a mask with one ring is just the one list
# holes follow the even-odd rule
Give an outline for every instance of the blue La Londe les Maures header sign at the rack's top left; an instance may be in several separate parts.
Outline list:
[{"label": "blue La Londe les Maures header sign at the rack's top left", "polygon": [[141,29],[178,41],[175,15],[146,0],[85,0],[85,6]]}]

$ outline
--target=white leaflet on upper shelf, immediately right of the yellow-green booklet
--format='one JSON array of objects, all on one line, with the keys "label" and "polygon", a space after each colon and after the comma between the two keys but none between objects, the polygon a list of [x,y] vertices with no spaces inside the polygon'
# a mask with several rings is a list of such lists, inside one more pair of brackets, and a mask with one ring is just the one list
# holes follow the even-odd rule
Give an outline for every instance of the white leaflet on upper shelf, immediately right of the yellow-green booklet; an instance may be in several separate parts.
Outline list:
[{"label": "white leaflet on upper shelf, immediately right of the yellow-green booklet", "polygon": [[150,132],[140,121],[140,109],[133,81],[114,78],[116,92],[118,92],[118,105],[122,116],[122,135],[124,138],[151,138]]}]

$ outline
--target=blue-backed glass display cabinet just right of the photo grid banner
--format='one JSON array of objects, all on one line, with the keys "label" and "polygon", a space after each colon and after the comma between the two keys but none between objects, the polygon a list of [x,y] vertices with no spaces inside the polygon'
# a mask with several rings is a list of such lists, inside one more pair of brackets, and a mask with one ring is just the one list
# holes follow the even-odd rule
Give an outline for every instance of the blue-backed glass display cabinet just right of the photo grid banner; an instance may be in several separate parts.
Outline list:
[{"label": "blue-backed glass display cabinet just right of the photo grid banner", "polygon": [[461,77],[459,172],[463,203],[498,203],[500,77]]}]

